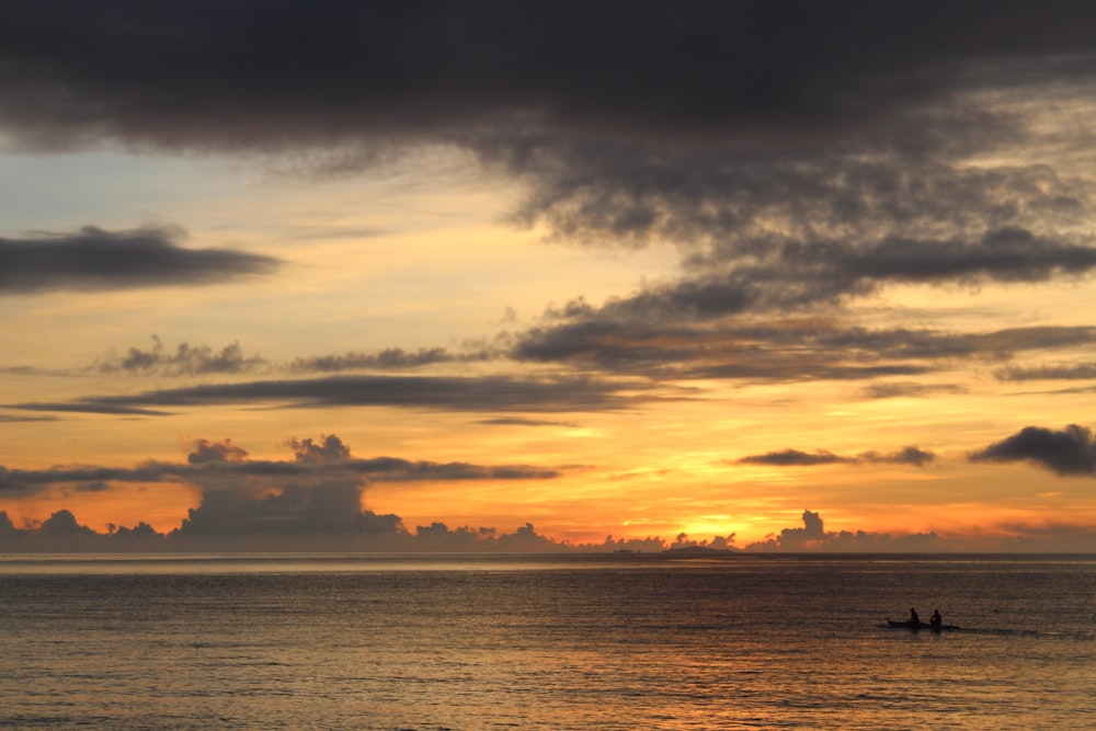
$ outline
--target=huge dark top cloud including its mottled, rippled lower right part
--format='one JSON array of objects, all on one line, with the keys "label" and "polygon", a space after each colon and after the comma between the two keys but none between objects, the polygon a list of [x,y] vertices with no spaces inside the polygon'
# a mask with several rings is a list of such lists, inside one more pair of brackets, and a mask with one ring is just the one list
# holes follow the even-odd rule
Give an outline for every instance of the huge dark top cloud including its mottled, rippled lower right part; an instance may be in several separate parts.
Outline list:
[{"label": "huge dark top cloud including its mottled, rippled lower right part", "polygon": [[685,248],[694,275],[618,309],[717,317],[1089,272],[1064,233],[1085,181],[962,158],[1036,134],[992,99],[1091,95],[1094,23],[1065,1],[15,1],[0,126],[331,170],[458,146],[523,185],[515,221]]}]

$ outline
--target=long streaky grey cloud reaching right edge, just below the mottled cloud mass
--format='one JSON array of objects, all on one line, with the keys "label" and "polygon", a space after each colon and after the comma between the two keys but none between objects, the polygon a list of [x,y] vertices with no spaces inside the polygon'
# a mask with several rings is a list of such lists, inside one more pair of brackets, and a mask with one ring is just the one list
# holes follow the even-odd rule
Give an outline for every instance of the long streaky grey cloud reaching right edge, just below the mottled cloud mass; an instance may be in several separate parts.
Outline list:
[{"label": "long streaky grey cloud reaching right edge, just below the mottled cloud mass", "polygon": [[[833,318],[721,318],[582,300],[550,310],[518,333],[517,361],[567,363],[653,378],[745,380],[872,379],[915,376],[969,359],[1006,361],[1035,350],[1096,343],[1096,328],[1007,328],[984,333],[868,330]],[[673,312],[674,317],[669,313]]]}]

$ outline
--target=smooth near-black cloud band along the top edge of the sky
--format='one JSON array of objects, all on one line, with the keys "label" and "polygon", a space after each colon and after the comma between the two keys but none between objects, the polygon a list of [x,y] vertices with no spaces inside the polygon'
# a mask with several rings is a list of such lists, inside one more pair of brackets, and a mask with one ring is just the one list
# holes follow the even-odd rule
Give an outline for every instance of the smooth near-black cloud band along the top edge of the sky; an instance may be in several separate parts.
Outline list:
[{"label": "smooth near-black cloud band along the top edge of the sky", "polygon": [[981,59],[1072,53],[1001,76],[1083,76],[1093,23],[1088,4],[1053,1],[15,0],[0,12],[0,100],[10,129],[52,145],[284,147],[530,116],[788,145],[969,83],[963,65]]}]

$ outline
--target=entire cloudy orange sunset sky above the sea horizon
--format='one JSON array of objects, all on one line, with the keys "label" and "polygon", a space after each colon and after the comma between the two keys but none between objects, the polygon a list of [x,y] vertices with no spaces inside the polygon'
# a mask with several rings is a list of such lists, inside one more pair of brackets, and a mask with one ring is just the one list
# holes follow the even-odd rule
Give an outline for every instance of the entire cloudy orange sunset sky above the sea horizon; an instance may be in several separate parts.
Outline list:
[{"label": "entire cloudy orange sunset sky above the sea horizon", "polygon": [[1096,5],[0,5],[0,550],[1096,551]]}]

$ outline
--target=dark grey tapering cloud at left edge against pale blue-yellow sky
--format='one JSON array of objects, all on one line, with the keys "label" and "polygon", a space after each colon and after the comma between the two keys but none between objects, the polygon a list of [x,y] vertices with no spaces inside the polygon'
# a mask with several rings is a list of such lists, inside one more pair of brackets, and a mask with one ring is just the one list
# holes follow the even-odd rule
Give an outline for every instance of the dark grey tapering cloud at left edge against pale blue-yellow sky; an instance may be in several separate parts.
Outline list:
[{"label": "dark grey tapering cloud at left edge against pale blue-yellow sky", "polygon": [[228,249],[184,249],[183,231],[145,227],[0,238],[0,295],[201,285],[264,274],[278,260]]}]

